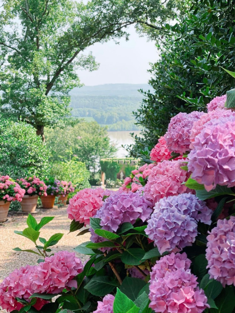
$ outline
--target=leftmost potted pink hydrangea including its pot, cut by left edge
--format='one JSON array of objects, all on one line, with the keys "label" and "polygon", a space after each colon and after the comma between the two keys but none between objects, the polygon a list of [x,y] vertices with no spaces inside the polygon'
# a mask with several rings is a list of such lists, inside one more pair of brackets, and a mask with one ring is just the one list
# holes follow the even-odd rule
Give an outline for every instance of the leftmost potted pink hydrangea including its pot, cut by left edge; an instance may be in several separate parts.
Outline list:
[{"label": "leftmost potted pink hydrangea including its pot, cut by left edge", "polygon": [[0,222],[7,220],[11,201],[22,201],[25,190],[8,175],[0,176]]}]

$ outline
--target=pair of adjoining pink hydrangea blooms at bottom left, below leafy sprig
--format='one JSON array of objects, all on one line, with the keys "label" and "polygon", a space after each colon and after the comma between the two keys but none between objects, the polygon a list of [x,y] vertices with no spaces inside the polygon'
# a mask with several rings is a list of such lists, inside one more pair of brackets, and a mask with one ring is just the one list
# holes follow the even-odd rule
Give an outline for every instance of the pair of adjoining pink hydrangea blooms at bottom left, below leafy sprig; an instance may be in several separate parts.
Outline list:
[{"label": "pair of adjoining pink hydrangea blooms at bottom left, below leafy sprig", "polygon": [[[73,278],[82,270],[81,260],[68,251],[47,257],[39,265],[15,269],[0,284],[0,306],[9,312],[20,310],[23,305],[16,298],[30,302],[29,297],[35,292],[54,294],[66,287],[76,287]],[[38,298],[34,307],[40,310],[45,303],[45,300]]]}]

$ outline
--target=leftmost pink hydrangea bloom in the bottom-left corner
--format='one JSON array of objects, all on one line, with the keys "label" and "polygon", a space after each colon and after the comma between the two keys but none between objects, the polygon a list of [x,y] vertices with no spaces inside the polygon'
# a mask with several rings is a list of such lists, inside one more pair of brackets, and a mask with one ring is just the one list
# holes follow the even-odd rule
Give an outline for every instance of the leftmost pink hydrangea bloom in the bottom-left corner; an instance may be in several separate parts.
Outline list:
[{"label": "leftmost pink hydrangea bloom in the bottom-left corner", "polygon": [[[8,312],[20,310],[23,305],[16,298],[30,302],[29,297],[34,293],[32,288],[32,275],[37,266],[26,265],[20,269],[15,269],[0,284],[0,307]],[[47,301],[37,299],[34,307],[40,310]]]}]

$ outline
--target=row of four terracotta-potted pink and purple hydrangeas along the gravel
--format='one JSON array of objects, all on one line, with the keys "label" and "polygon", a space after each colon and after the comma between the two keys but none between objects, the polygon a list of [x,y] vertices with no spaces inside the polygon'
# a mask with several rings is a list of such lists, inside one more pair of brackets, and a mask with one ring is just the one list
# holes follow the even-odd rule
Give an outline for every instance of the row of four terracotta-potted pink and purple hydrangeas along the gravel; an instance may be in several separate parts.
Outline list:
[{"label": "row of four terracotta-potted pink and purple hydrangeas along the gravel", "polygon": [[33,213],[40,197],[43,208],[53,208],[55,197],[66,204],[68,194],[74,192],[71,182],[54,178],[40,180],[38,177],[25,177],[14,181],[8,175],[0,176],[0,222],[7,220],[12,201],[21,203],[23,212]]}]

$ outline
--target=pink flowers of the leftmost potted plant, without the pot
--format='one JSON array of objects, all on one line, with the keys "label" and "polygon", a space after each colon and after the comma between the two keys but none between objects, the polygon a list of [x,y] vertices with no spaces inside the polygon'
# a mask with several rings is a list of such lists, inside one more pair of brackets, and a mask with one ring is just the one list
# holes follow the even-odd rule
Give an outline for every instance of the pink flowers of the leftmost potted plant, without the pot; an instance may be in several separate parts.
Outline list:
[{"label": "pink flowers of the leftmost potted plant, without the pot", "polygon": [[24,194],[25,190],[8,175],[0,176],[0,200],[21,202]]}]

